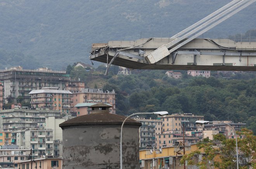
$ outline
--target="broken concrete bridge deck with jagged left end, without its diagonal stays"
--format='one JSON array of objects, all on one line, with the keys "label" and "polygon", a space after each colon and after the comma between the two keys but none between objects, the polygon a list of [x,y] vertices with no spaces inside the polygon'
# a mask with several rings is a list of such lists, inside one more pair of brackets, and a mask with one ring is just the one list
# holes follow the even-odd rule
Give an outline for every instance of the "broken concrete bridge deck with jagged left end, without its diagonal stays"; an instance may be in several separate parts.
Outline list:
[{"label": "broken concrete bridge deck with jagged left end, without its diagonal stays", "polygon": [[[256,42],[194,39],[171,54],[163,49],[150,56],[173,40],[150,38],[93,44],[90,59],[131,69],[256,71]],[[159,61],[154,63],[154,59]]]}]

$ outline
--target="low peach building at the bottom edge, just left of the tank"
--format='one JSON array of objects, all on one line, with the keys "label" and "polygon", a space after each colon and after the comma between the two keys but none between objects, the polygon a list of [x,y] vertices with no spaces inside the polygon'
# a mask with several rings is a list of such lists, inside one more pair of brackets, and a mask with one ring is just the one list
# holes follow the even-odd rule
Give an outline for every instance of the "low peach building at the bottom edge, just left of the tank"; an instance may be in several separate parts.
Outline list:
[{"label": "low peach building at the bottom edge, just left of the tank", "polygon": [[[17,162],[18,169],[31,169],[31,160]],[[62,157],[54,158],[46,156],[35,159],[32,163],[32,169],[62,169]]]}]

